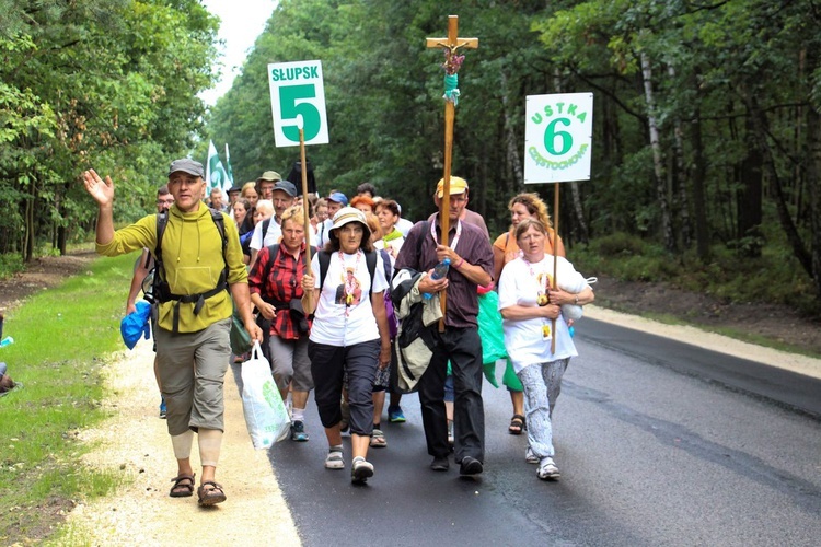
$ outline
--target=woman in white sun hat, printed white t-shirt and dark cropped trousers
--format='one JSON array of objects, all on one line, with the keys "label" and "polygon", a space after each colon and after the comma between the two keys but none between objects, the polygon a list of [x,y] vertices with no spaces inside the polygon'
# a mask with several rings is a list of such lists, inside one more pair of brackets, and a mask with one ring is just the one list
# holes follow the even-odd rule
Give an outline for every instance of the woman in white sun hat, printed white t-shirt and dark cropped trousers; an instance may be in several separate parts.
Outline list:
[{"label": "woman in white sun hat, printed white t-shirt and dark cropped trousers", "polygon": [[[343,469],[342,409],[339,400],[343,376],[348,377],[348,404],[351,433],[351,481],[362,484],[373,476],[373,465],[366,461],[373,431],[373,381],[377,369],[391,363],[391,339],[383,293],[388,289],[382,257],[375,254],[373,279],[368,255],[373,253],[365,214],[345,207],[334,214],[329,241],[313,257],[311,269],[321,276],[304,276],[305,296],[302,306],[314,313],[308,356],[314,380],[314,398],[325,428],[328,454],[325,467]],[[327,271],[321,272],[321,254],[328,258]],[[323,258],[324,259],[324,258]]]}]

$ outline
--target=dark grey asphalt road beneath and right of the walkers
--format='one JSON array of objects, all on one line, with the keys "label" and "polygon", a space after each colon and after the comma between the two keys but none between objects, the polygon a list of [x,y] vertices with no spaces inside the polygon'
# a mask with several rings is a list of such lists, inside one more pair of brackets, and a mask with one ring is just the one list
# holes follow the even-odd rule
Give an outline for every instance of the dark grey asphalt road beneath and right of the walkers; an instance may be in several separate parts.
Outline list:
[{"label": "dark grey asphalt road beneath and right of the walkers", "polygon": [[408,422],[383,423],[389,445],[369,452],[374,477],[351,486],[349,439],[348,467],[324,469],[311,406],[311,441],[269,452],[303,544],[819,545],[819,381],[592,319],[577,347],[554,414],[557,482],[524,462],[509,396],[488,383],[475,479],[428,468],[410,395]]}]

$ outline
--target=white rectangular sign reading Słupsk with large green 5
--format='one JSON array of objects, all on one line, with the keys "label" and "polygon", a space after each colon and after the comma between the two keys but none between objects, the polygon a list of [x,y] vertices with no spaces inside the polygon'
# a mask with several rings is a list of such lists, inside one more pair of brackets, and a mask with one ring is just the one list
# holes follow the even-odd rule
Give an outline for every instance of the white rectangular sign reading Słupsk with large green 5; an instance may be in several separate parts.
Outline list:
[{"label": "white rectangular sign reading S\u0142upsk with large green 5", "polygon": [[268,83],[277,148],[299,146],[300,128],[305,144],[327,144],[322,61],[268,65]]}]

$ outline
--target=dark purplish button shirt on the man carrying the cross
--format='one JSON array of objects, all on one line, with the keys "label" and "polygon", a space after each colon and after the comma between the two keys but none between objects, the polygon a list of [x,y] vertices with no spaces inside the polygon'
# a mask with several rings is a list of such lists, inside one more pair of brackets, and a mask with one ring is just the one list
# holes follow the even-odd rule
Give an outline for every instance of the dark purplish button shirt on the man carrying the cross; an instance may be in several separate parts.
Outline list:
[{"label": "dark purplish button shirt on the man carrying the cross", "polygon": [[[424,232],[423,232],[424,230]],[[441,228],[436,223],[437,237],[441,241]],[[448,235],[448,242],[453,243],[456,235],[456,225],[452,223]],[[416,256],[418,241],[421,238],[419,256]],[[481,267],[489,276],[494,275],[494,253],[487,236],[473,224],[462,221],[462,234],[455,247],[459,256],[464,261]],[[430,235],[430,224],[417,222],[407,233],[402,251],[396,257],[395,270],[410,268],[416,271],[428,271],[437,265],[436,242]],[[470,281],[456,268],[451,265],[448,271],[448,296],[444,314],[444,324],[449,327],[475,327],[476,314],[478,314],[478,295],[476,283]]]}]

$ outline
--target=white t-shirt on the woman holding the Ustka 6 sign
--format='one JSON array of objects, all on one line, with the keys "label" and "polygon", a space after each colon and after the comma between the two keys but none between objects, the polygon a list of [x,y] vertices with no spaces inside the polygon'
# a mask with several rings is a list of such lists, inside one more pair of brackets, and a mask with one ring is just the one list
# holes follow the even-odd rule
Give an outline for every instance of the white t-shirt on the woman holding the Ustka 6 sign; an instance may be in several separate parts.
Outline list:
[{"label": "white t-shirt on the woman holding the Ustka 6 sign", "polygon": [[[585,279],[574,269],[573,265],[563,257],[557,263],[558,279],[579,282]],[[523,257],[516,258],[505,265],[499,277],[499,310],[519,304],[536,306],[539,292],[553,282],[553,256],[535,264],[529,264]],[[562,284],[565,284],[564,282]],[[548,331],[545,333],[544,329]],[[502,321],[505,331],[505,347],[508,350],[513,369],[518,373],[530,364],[547,363],[578,356],[573,344],[567,323],[562,315],[556,319],[556,331],[552,331],[551,319],[536,317],[532,319]],[[551,338],[556,338],[556,352],[551,353]]]}]

